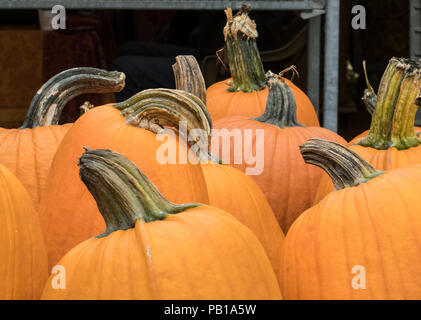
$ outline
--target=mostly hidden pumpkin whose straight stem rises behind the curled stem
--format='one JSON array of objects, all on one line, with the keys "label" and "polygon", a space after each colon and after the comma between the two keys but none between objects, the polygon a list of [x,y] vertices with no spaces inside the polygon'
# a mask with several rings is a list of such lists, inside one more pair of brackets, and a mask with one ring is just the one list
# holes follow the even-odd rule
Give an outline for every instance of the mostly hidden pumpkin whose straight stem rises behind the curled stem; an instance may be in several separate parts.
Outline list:
[{"label": "mostly hidden pumpkin whose straight stem rises behind the curled stem", "polygon": [[[177,56],[173,69],[177,89],[194,94],[202,100],[205,107],[205,81],[195,57]],[[207,112],[207,109],[204,111]],[[211,126],[211,122],[209,125]],[[209,196],[209,202],[206,204],[231,213],[250,228],[265,248],[275,274],[278,275],[279,252],[284,234],[265,195],[243,172],[220,164],[212,154],[209,156],[210,161],[201,162]]]}]

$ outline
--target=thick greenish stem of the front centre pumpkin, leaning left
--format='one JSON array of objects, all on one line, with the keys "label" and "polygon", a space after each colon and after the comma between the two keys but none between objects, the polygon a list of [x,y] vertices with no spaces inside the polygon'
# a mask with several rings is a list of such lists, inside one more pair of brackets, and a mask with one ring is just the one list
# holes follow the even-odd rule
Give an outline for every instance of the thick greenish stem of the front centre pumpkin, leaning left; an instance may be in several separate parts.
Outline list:
[{"label": "thick greenish stem of the front centre pumpkin, leaning left", "polygon": [[138,167],[119,153],[85,150],[78,162],[79,174],[106,223],[105,232],[97,238],[133,228],[137,220],[162,220],[200,205],[169,202]]}]

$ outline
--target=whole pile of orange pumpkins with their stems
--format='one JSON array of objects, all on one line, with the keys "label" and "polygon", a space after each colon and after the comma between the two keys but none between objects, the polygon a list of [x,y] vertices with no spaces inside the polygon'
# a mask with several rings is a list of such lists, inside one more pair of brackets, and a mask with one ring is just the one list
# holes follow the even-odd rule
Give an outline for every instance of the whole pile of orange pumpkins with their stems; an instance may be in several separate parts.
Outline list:
[{"label": "whole pile of orange pumpkins with their stems", "polygon": [[[248,13],[226,10],[232,78],[207,91],[178,56],[177,89],[58,125],[74,96],[124,87],[120,72],[70,69],[0,129],[0,299],[421,299],[421,63],[392,58],[377,95],[368,84],[371,128],[348,143],[263,70]],[[165,143],[189,161],[162,164],[158,137],[180,123]],[[250,143],[230,137],[226,162],[214,129]],[[256,150],[247,175],[233,159]]]}]

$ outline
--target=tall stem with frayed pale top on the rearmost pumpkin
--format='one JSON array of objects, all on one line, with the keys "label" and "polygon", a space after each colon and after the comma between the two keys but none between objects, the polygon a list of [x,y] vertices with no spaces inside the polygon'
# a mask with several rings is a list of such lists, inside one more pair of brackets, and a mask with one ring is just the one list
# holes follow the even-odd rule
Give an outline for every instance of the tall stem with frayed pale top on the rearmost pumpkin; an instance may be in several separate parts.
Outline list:
[{"label": "tall stem with frayed pale top on the rearmost pumpkin", "polygon": [[231,8],[225,10],[224,38],[233,79],[229,91],[252,92],[265,88],[265,71],[256,45],[258,33],[248,16],[250,9],[243,4],[235,16]]}]

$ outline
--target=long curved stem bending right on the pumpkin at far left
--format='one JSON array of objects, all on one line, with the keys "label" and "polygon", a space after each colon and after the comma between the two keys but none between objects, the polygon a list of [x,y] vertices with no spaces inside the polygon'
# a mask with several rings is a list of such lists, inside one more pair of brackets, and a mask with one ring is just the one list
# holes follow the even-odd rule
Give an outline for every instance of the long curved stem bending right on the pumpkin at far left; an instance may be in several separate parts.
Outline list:
[{"label": "long curved stem bending right on the pumpkin at far left", "polygon": [[48,80],[32,98],[20,129],[58,124],[66,104],[85,93],[110,93],[123,90],[126,76],[122,72],[96,68],[65,70]]}]

